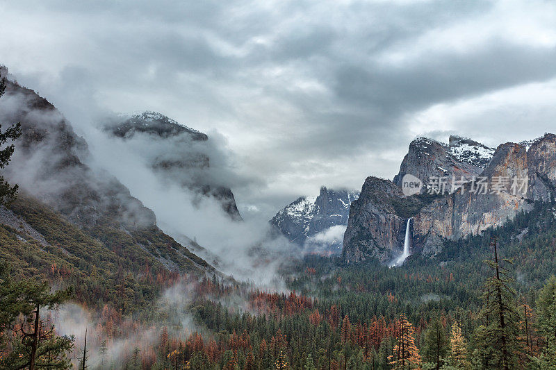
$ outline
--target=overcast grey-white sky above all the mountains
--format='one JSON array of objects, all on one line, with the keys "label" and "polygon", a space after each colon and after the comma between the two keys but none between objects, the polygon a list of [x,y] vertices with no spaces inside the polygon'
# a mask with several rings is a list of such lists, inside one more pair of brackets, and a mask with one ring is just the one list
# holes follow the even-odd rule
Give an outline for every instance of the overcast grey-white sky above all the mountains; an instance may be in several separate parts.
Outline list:
[{"label": "overcast grey-white sky above all the mountains", "polygon": [[70,119],[155,110],[223,137],[246,217],[392,178],[416,136],[556,131],[553,1],[0,0],[0,16],[0,64]]}]

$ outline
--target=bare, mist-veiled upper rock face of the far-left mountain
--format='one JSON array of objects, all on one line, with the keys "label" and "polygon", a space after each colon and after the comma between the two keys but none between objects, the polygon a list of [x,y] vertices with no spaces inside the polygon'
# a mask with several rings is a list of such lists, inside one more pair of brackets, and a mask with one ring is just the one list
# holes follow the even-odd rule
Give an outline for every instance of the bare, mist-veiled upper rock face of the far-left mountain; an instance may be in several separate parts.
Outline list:
[{"label": "bare, mist-veiled upper rock face of the far-left mountain", "polygon": [[99,221],[126,228],[156,225],[152,210],[116,178],[83,164],[85,140],[49,101],[6,80],[2,103],[0,121],[22,125],[13,163],[6,169],[10,179],[24,187],[32,184],[31,194],[79,226]]}]

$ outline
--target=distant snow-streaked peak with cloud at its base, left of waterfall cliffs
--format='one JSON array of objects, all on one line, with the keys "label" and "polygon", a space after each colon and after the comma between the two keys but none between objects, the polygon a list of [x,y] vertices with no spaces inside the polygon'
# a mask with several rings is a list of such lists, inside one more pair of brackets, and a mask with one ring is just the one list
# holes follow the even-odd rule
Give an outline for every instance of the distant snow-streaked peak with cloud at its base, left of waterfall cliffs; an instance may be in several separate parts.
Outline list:
[{"label": "distant snow-streaked peak with cloud at its base, left of waterfall cliffs", "polygon": [[350,204],[358,197],[358,192],[323,186],[318,196],[302,196],[286,205],[270,224],[306,251],[339,253]]}]

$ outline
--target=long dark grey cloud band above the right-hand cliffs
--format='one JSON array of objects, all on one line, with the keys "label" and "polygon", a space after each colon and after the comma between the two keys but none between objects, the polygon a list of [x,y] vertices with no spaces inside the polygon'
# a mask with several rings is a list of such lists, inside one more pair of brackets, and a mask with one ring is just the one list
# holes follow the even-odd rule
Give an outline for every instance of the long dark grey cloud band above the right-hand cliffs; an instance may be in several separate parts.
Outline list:
[{"label": "long dark grey cloud band above the right-hand cliffs", "polygon": [[483,94],[556,74],[556,49],[492,40],[466,55],[439,53],[411,65],[351,65],[336,72],[335,91],[350,103],[407,112],[432,103]]}]

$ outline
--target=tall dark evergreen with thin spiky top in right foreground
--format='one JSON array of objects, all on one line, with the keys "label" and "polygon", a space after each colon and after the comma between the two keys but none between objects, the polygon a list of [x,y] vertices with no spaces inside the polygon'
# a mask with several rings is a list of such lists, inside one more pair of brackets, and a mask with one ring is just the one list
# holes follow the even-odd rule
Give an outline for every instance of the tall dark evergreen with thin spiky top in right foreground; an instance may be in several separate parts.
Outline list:
[{"label": "tall dark evergreen with thin spiky top in right foreground", "polygon": [[484,325],[475,330],[477,354],[483,355],[483,366],[487,369],[515,369],[522,350],[519,341],[519,314],[514,297],[514,280],[499,263],[512,264],[511,260],[498,259],[496,238],[491,242],[494,260],[486,261],[493,269],[493,276],[486,280],[482,295],[483,308],[480,318]]}]

